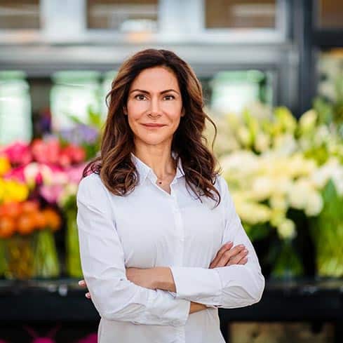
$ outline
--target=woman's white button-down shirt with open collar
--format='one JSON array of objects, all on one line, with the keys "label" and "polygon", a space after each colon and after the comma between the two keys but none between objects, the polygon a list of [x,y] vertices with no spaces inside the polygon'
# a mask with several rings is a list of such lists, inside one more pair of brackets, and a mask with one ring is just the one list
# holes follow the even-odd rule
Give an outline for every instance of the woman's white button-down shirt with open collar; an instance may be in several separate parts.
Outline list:
[{"label": "woman's white button-down shirt with open collar", "polygon": [[[83,178],[77,194],[81,266],[101,316],[98,342],[222,343],[217,308],[254,304],[264,290],[227,183],[217,177],[222,201],[213,209],[213,200],[201,203],[187,191],[181,161],[168,194],[152,168],[131,156],[139,184],[130,194],[115,196],[97,174]],[[228,241],[246,246],[248,262],[209,269]],[[170,267],[176,292],[135,285],[128,267]],[[208,309],[189,314],[191,301]]]}]

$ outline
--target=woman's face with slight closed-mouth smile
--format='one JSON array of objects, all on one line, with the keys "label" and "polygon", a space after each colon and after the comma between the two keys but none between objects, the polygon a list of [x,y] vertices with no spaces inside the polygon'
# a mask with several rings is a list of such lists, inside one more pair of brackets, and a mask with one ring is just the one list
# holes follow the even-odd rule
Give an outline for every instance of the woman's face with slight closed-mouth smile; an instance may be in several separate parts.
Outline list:
[{"label": "woman's face with slight closed-mouth smile", "polygon": [[175,74],[165,67],[140,72],[130,86],[127,115],[135,144],[170,143],[184,115]]}]

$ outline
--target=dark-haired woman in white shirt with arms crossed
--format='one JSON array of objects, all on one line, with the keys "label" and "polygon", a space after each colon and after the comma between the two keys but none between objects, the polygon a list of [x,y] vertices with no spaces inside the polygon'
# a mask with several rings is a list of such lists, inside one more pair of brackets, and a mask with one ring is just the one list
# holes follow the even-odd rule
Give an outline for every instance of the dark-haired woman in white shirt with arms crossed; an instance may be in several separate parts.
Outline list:
[{"label": "dark-haired woman in white shirt with arms crossed", "polygon": [[77,194],[98,341],[224,342],[217,308],[260,301],[264,276],[204,144],[201,85],[175,53],[148,49],[107,97],[101,156]]}]

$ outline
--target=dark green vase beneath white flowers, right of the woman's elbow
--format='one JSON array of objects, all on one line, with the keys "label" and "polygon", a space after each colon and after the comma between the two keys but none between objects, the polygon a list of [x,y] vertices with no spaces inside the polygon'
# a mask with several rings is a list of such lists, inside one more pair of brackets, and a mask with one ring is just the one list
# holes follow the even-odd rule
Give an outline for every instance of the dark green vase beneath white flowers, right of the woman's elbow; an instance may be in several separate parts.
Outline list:
[{"label": "dark green vase beneath white flowers, right of the woman's elbow", "polygon": [[293,238],[281,241],[281,250],[276,257],[271,278],[288,280],[304,274],[302,261],[293,247]]}]

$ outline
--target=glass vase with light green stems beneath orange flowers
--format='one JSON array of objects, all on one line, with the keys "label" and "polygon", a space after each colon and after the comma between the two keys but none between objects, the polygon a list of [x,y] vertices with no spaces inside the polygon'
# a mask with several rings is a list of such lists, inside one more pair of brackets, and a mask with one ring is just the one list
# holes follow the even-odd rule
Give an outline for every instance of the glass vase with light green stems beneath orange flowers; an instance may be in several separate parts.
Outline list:
[{"label": "glass vase with light green stems beneath orange flowers", "polygon": [[56,278],[60,276],[60,264],[51,229],[35,233],[34,269],[37,277]]}]

